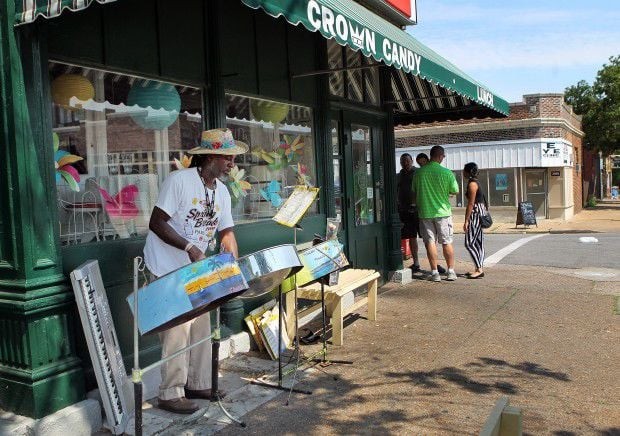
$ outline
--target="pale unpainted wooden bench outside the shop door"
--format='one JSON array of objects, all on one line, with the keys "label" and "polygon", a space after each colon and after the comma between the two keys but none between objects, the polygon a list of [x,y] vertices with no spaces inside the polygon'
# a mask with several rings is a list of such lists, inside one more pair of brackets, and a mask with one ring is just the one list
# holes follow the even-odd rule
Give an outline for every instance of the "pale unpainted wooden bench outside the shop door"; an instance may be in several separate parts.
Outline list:
[{"label": "pale unpainted wooden bench outside the shop door", "polygon": [[[372,269],[347,269],[340,272],[338,284],[335,286],[325,285],[325,307],[327,314],[331,317],[333,328],[332,343],[334,345],[342,345],[343,342],[343,320],[346,315],[368,304],[368,319],[377,320],[377,280],[381,277],[377,271]],[[343,297],[362,286],[367,286],[368,294],[358,301],[354,302],[350,307],[343,307]],[[295,304],[295,293],[288,292],[286,294],[286,313],[293,313]],[[315,311],[320,307],[321,301],[321,284],[313,283],[311,285],[302,286],[297,293],[298,298],[319,301],[318,304],[301,311],[298,316],[303,318],[305,315]],[[328,307],[331,307],[331,314]],[[294,322],[294,317],[289,317],[289,324]],[[289,332],[292,332],[289,327]]]}]

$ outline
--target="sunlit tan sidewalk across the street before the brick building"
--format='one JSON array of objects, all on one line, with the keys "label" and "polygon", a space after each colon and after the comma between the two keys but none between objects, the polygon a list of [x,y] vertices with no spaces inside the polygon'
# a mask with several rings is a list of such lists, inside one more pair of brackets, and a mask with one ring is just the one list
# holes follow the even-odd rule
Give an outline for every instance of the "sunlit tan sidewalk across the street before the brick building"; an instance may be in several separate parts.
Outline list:
[{"label": "sunlit tan sidewalk across the street before the brick building", "polygon": [[[491,213],[493,211],[491,210]],[[455,233],[463,233],[463,216],[454,216]],[[591,233],[620,231],[620,202],[603,201],[583,209],[570,220],[541,220],[538,226],[515,227],[514,222],[497,223],[486,233]]]}]

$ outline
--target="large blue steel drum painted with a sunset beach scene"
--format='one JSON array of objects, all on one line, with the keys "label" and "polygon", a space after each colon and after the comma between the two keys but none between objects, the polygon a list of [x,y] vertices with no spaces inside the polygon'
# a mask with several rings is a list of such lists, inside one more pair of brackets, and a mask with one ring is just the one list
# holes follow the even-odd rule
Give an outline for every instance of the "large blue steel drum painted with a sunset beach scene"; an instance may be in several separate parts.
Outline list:
[{"label": "large blue steel drum painted with a sunset beach scene", "polygon": [[[248,283],[231,253],[199,260],[138,289],[138,329],[143,335],[167,330],[219,307],[246,289]],[[127,297],[132,313],[134,298],[134,293]]]}]

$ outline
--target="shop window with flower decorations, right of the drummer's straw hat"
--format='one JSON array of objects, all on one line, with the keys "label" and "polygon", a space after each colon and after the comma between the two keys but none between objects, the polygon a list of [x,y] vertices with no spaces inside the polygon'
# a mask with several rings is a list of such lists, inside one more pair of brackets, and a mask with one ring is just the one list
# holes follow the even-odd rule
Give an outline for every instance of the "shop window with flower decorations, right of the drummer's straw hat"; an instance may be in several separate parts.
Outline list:
[{"label": "shop window with flower decorations, right of the drummer's straw hat", "polygon": [[[233,218],[271,218],[296,185],[317,185],[312,110],[235,94],[226,100],[227,127],[250,147],[236,159],[236,182],[246,181],[248,188],[230,190]],[[306,215],[317,211],[315,202]]]}]

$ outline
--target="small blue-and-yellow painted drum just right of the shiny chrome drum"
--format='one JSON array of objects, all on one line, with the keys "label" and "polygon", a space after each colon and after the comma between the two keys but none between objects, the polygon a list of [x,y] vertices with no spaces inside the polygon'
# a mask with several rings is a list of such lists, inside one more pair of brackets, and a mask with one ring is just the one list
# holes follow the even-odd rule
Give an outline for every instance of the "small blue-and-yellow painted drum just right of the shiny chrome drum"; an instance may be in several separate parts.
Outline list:
[{"label": "small blue-and-yellow painted drum just right of the shiny chrome drum", "polygon": [[297,285],[306,285],[349,265],[342,249],[343,245],[337,239],[330,239],[301,251],[299,258],[304,267],[295,276]]}]

